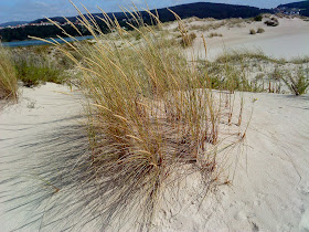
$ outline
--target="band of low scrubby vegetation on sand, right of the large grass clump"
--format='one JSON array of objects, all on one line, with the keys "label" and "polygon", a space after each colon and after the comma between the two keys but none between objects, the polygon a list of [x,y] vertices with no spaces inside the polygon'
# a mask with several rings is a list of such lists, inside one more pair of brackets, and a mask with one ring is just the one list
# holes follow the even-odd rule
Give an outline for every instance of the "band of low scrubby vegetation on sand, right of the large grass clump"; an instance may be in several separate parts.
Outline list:
[{"label": "band of low scrubby vegetation on sand, right of the large grass clump", "polygon": [[271,59],[262,52],[226,52],[214,62],[200,64],[212,87],[245,92],[305,94],[308,89],[308,57]]}]

